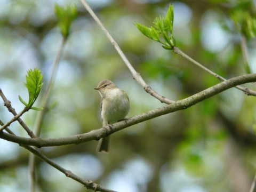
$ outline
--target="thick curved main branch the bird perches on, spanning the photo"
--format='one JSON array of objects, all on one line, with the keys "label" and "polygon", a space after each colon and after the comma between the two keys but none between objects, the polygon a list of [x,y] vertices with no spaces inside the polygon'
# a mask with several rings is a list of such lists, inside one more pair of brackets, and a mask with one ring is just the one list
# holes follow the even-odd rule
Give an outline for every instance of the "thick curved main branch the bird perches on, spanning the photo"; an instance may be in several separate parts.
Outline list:
[{"label": "thick curved main branch the bird perches on, spanning the photo", "polygon": [[170,105],[153,109],[153,110],[147,111],[146,113],[135,115],[129,119],[125,119],[121,122],[114,123],[113,125],[111,125],[111,128],[106,126],[98,130],[92,130],[88,133],[78,134],[78,135],[73,135],[70,137],[58,138],[58,139],[42,139],[42,138],[30,139],[30,138],[18,137],[15,135],[4,133],[4,132],[0,133],[0,138],[15,142],[15,143],[37,146],[37,147],[62,146],[62,145],[70,145],[70,144],[79,144],[79,143],[91,141],[91,140],[99,140],[102,137],[106,137],[109,134],[122,130],[131,125],[138,124],[138,123],[141,123],[165,114],[169,114],[174,111],[186,109],[188,107],[196,105],[196,103],[198,102],[201,102],[205,99],[213,97],[214,95],[220,92],[230,89],[231,87],[234,87],[239,84],[250,83],[250,82],[256,82],[256,74],[241,75],[238,77],[228,79],[227,81],[214,85],[186,99],[178,100]]}]

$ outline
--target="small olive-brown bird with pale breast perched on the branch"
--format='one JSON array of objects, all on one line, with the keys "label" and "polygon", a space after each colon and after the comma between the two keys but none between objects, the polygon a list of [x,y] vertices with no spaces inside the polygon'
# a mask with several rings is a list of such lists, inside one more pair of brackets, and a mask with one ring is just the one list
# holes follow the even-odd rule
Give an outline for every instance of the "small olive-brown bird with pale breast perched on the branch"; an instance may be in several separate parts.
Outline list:
[{"label": "small olive-brown bird with pale breast perched on the branch", "polygon": [[[126,92],[108,79],[102,80],[94,89],[99,91],[101,96],[102,127],[116,123],[126,117],[130,110],[130,100]],[[109,136],[99,140],[97,151],[109,151]]]}]

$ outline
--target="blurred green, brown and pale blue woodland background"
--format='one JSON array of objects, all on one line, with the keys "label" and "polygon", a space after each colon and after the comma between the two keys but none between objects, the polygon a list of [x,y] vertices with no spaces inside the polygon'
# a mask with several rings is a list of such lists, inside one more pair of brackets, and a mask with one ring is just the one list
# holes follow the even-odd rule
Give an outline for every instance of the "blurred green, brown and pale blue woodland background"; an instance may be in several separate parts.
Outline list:
[{"label": "blurred green, brown and pale blue woodland background", "polygon": [[[170,3],[174,5],[173,36],[183,52],[225,78],[248,70],[256,73],[256,41],[240,33],[233,17],[239,19],[238,13],[255,17],[254,0],[87,2],[147,84],[169,99],[183,99],[219,83],[180,55],[150,41],[133,25],[151,26],[155,17],[166,14]],[[18,95],[28,98],[23,85],[28,69],[42,70],[44,85],[39,96],[49,82],[61,43],[56,3],[75,5],[78,15],[61,57],[41,137],[68,137],[99,129],[100,95],[93,88],[105,78],[129,95],[127,117],[165,105],[133,80],[78,0],[0,0],[0,87],[18,112],[23,108]],[[248,62],[241,39],[247,46]],[[246,86],[256,90],[253,83]],[[40,107],[38,103],[35,106]],[[108,154],[95,152],[97,141],[40,150],[79,177],[116,191],[249,191],[256,172],[255,103],[255,97],[233,88],[186,110],[111,135]],[[22,116],[30,129],[36,113],[30,110]],[[11,118],[2,103],[0,119]],[[28,137],[18,123],[10,129]],[[5,140],[0,140],[0,146],[0,191],[28,191],[28,151]],[[85,191],[80,183],[36,160],[37,191]]]}]

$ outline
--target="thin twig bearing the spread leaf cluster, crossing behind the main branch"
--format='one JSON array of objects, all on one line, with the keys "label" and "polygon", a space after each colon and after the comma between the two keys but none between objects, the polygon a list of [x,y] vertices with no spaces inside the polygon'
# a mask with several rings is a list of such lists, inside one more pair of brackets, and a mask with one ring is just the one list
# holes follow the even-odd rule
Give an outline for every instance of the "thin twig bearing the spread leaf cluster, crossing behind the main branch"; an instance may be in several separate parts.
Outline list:
[{"label": "thin twig bearing the spread leaf cluster, crossing behind the main branch", "polygon": [[[182,57],[186,58],[187,60],[191,61],[192,63],[194,63],[196,66],[198,66],[199,68],[207,71],[208,73],[210,73],[211,75],[213,75],[214,77],[217,77],[220,81],[226,81],[227,79],[224,77],[221,77],[220,75],[214,73],[213,71],[211,71],[210,69],[204,67],[203,65],[201,65],[199,62],[195,61],[194,59],[190,58],[187,54],[183,53],[179,47],[173,47],[173,52],[177,53],[179,55],[181,55]],[[236,86],[236,88],[238,90],[241,90],[243,92],[245,92],[245,94],[247,95],[254,95],[256,96],[256,91],[252,91],[250,89],[248,89],[247,87],[242,87],[242,86]]]}]

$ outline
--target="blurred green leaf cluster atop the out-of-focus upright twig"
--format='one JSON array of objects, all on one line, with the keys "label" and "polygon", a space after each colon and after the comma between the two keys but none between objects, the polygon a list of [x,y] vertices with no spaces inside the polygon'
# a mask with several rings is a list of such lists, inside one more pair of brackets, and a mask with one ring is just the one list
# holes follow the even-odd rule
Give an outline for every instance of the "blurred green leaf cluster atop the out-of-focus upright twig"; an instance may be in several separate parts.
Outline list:
[{"label": "blurred green leaf cluster atop the out-of-focus upright twig", "polygon": [[67,38],[69,35],[69,28],[72,21],[76,18],[77,11],[75,6],[66,6],[62,7],[58,4],[55,4],[55,15],[58,19],[58,26],[60,32],[64,38]]}]

